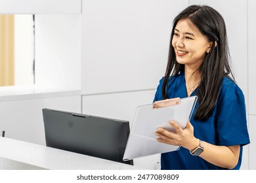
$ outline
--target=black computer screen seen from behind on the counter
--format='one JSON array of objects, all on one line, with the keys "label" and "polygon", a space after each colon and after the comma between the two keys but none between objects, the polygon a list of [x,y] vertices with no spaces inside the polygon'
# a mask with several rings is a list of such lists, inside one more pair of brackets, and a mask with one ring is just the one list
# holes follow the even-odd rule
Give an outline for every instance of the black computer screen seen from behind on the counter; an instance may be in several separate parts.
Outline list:
[{"label": "black computer screen seen from behind on the counter", "polygon": [[123,161],[128,121],[43,108],[43,122],[49,147],[133,165]]}]

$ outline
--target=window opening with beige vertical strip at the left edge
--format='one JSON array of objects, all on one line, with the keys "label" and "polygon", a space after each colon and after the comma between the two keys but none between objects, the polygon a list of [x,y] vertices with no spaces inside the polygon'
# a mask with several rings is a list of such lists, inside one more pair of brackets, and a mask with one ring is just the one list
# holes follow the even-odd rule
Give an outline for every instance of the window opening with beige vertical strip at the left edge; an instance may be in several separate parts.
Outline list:
[{"label": "window opening with beige vertical strip at the left edge", "polygon": [[33,15],[0,15],[0,86],[33,84]]}]

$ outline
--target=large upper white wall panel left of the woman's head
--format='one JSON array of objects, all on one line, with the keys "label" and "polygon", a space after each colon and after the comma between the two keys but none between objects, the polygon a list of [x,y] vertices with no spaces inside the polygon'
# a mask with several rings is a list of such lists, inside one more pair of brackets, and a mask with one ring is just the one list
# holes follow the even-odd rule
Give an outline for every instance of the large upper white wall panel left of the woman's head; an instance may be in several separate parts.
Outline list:
[{"label": "large upper white wall panel left of the woman's head", "polygon": [[187,5],[83,0],[82,93],[155,88],[165,73],[173,18]]}]

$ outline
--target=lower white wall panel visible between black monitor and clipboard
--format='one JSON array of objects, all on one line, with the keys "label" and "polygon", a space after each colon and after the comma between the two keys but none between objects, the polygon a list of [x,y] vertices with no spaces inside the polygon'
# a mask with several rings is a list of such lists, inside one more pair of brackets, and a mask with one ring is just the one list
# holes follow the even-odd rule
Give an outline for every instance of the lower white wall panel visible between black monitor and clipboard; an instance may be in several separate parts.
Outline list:
[{"label": "lower white wall panel visible between black monitor and clipboard", "polygon": [[100,95],[83,95],[84,114],[128,120],[133,122],[133,115],[139,105],[153,102],[155,90],[140,92],[120,92]]}]

